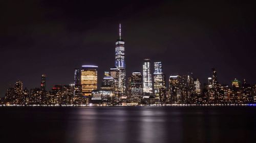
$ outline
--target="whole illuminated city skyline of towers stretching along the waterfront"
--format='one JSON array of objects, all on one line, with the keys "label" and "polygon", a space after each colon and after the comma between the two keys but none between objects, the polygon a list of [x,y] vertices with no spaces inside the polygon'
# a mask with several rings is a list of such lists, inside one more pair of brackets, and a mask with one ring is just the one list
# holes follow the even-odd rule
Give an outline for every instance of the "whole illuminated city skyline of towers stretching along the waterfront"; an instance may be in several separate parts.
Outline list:
[{"label": "whole illuminated city skyline of towers stretching along the waterfront", "polygon": [[[28,90],[23,88],[22,81],[17,80],[13,87],[7,89],[5,97],[0,100],[0,105],[255,105],[256,85],[247,83],[245,79],[236,78],[231,81],[231,86],[223,85],[218,82],[217,70],[214,68],[211,69],[212,76],[208,77],[208,83],[204,84],[194,77],[193,73],[169,73],[166,80],[164,64],[160,61],[152,63],[148,58],[144,59],[141,69],[126,74],[125,47],[121,36],[119,24],[114,67],[98,73],[97,65],[82,65],[74,70],[72,84],[54,85],[50,91],[46,90],[46,74],[41,75],[40,88]],[[98,74],[104,74],[100,87]]]}]

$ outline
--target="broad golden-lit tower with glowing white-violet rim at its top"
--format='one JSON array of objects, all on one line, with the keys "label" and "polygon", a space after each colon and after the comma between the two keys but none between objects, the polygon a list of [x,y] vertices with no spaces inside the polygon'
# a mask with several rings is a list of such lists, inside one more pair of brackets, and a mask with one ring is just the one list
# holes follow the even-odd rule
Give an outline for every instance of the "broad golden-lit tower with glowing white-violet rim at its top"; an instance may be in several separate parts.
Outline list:
[{"label": "broad golden-lit tower with glowing white-violet rim at its top", "polygon": [[98,66],[84,65],[81,70],[82,95],[88,97],[97,89]]}]

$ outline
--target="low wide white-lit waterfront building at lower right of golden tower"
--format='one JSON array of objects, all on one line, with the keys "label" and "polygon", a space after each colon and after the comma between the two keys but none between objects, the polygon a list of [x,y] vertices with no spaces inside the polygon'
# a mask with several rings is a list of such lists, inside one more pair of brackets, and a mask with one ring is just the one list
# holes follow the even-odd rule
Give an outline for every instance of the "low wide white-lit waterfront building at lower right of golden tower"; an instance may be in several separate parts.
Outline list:
[{"label": "low wide white-lit waterfront building at lower right of golden tower", "polygon": [[93,104],[111,104],[113,91],[110,90],[93,90],[91,103]]}]

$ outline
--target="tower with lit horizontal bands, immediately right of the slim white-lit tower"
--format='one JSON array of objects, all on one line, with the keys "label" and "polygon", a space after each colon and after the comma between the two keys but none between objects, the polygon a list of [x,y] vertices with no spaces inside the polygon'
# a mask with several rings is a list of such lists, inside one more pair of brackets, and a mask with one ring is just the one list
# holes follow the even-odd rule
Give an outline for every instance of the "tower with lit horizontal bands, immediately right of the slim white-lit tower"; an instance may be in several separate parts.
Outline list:
[{"label": "tower with lit horizontal bands, immediately right of the slim white-lit tower", "polygon": [[165,88],[165,75],[162,72],[162,63],[155,62],[154,63],[154,94],[155,94],[156,102],[159,102],[160,100],[159,90],[161,88]]}]

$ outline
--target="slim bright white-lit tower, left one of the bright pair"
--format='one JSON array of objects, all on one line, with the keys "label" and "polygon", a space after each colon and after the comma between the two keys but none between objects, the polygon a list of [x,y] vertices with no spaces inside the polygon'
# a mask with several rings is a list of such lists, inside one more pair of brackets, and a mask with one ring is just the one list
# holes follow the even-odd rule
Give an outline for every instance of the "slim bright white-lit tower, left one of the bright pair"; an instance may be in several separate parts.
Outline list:
[{"label": "slim bright white-lit tower, left one of the bright pair", "polygon": [[150,59],[144,59],[143,64],[143,98],[153,96],[152,75],[150,70]]}]

